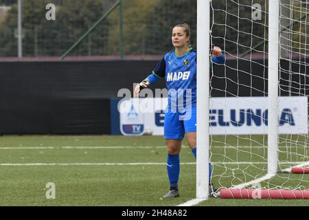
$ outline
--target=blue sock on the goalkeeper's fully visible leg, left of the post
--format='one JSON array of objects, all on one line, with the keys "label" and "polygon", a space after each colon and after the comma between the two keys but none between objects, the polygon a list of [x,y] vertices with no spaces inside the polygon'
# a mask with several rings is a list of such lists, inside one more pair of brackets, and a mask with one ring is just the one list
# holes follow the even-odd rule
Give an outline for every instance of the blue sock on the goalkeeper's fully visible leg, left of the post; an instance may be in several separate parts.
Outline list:
[{"label": "blue sock on the goalkeeper's fully visible leg, left of the post", "polygon": [[179,154],[169,155],[168,154],[168,179],[170,180],[170,188],[178,188],[180,164]]}]

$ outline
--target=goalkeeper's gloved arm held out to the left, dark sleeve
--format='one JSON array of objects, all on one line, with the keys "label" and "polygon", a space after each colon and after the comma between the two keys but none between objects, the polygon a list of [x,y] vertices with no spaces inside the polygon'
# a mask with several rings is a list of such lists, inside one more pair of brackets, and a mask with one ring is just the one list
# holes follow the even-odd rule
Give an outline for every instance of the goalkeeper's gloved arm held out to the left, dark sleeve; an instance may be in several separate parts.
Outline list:
[{"label": "goalkeeper's gloved arm held out to the left, dark sleeve", "polygon": [[137,84],[134,89],[134,97],[139,96],[141,89],[145,89],[148,86],[156,83],[160,78],[165,76],[165,58],[162,58],[161,61],[156,65],[155,69],[152,71],[152,74],[147,76],[141,83]]}]

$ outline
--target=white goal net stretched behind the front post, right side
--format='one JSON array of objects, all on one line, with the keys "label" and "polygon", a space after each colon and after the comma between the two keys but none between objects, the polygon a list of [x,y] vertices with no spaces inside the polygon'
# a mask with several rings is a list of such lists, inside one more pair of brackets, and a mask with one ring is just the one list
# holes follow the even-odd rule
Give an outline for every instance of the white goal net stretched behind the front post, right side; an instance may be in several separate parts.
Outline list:
[{"label": "white goal net stretched behind the front post, right side", "polygon": [[209,3],[210,47],[227,57],[210,69],[215,195],[309,199],[309,2]]}]

